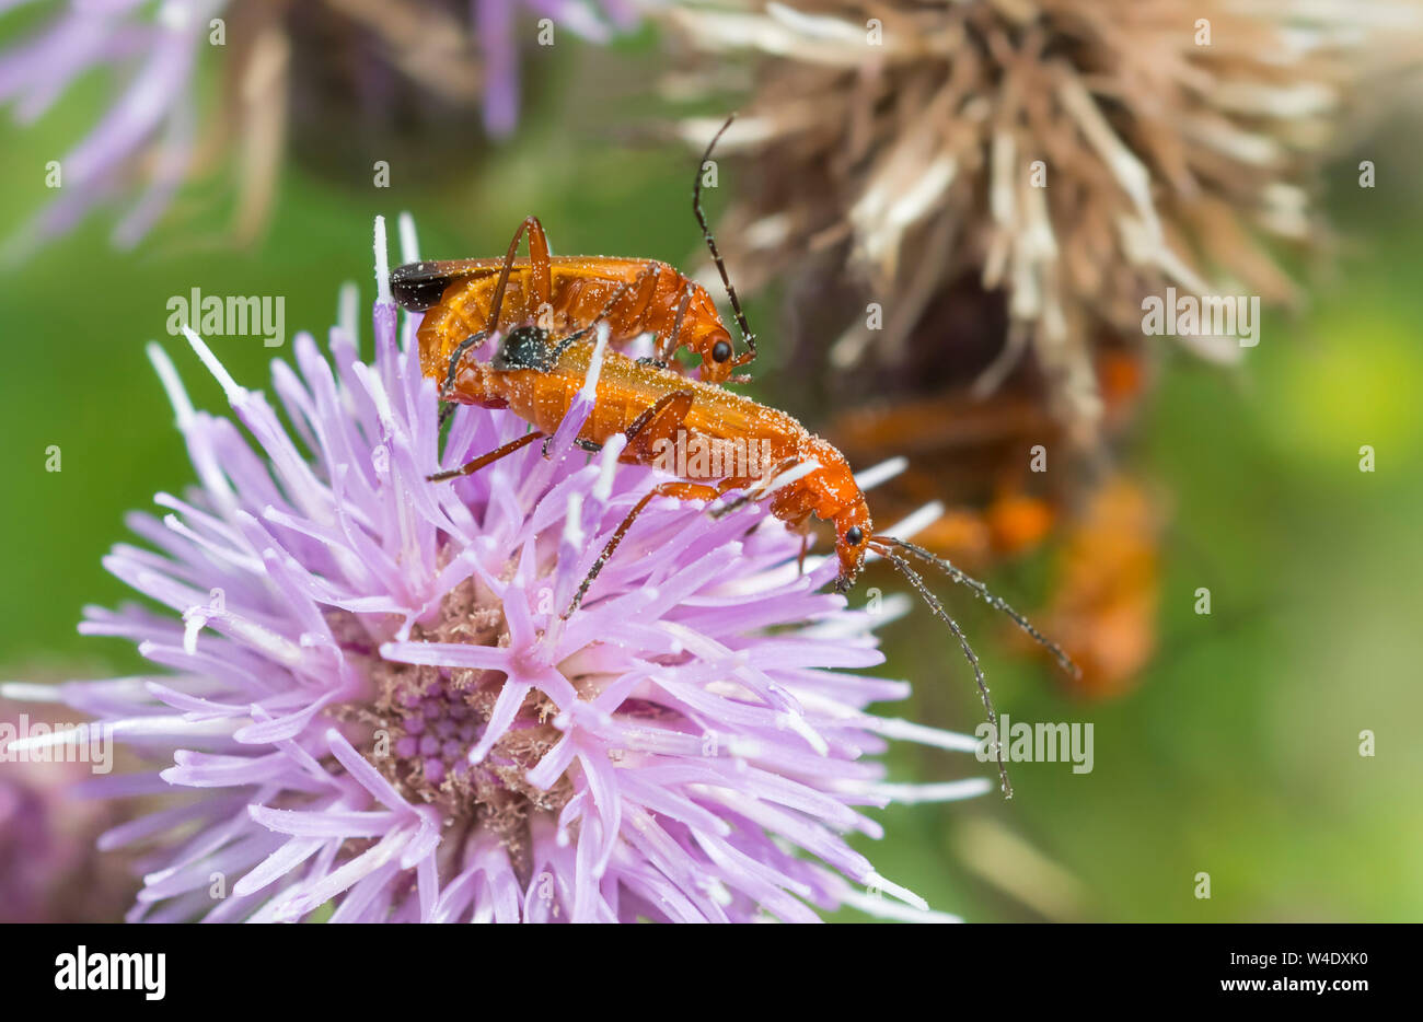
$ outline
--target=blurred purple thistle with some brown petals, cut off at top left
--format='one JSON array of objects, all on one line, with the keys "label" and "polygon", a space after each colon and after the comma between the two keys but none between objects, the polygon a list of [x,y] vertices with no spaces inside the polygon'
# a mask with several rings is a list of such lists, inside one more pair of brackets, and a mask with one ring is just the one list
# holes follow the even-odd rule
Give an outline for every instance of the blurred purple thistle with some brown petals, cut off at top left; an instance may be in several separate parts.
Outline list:
[{"label": "blurred purple thistle with some brown petals, cut off at top left", "polygon": [[[24,0],[0,0],[0,13]],[[400,9],[379,0],[317,0],[299,14],[350,23],[381,57],[443,100],[481,104],[492,137],[514,131],[519,107],[519,50],[535,41],[528,16],[551,19],[586,41],[633,28],[643,0],[420,0]],[[455,9],[454,11],[451,9]],[[102,70],[118,97],[98,124],[60,158],[58,198],[11,239],[11,256],[71,231],[97,205],[127,204],[112,231],[120,248],[137,245],[195,165],[199,117],[213,138],[240,137],[238,229],[255,233],[280,165],[287,73],[293,60],[280,7],[252,0],[71,0],[33,36],[0,53],[0,105],[31,124],[83,75]],[[221,44],[215,19],[222,19]],[[232,38],[228,38],[228,23]],[[205,51],[231,51],[229,94],[198,110],[195,71]],[[370,60],[361,51],[359,60]],[[142,182],[131,201],[129,188]]]}]

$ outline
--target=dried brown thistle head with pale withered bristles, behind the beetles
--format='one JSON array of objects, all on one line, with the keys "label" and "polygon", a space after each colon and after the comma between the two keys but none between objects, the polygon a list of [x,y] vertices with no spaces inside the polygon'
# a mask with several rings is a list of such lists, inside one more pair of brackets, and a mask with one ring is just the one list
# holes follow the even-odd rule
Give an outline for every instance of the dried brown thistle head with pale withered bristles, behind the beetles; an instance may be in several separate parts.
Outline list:
[{"label": "dried brown thistle head with pale withered bristles, behind the beetles", "polygon": [[[885,325],[852,327],[841,367],[894,360],[916,332],[943,350],[925,313],[975,278],[1006,296],[1005,357],[1030,350],[1089,433],[1091,347],[1140,337],[1144,295],[1294,297],[1266,241],[1318,235],[1318,155],[1390,64],[1390,33],[1414,33],[1410,57],[1419,40],[1417,9],[1390,0],[753,0],[669,17],[692,46],[760,56],[726,139],[761,178],[723,231],[739,272],[848,263]],[[1238,353],[1220,340],[1200,347]]]}]

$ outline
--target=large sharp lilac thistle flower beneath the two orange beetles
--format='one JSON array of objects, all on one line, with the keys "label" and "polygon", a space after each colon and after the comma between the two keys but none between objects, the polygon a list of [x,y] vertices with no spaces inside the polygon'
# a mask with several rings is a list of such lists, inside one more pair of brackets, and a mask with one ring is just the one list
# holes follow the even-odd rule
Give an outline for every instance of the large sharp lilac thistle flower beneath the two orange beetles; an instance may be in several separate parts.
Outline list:
[{"label": "large sharp lilac thistle flower beneath the two orange beetles", "polygon": [[[416,258],[408,221],[401,235]],[[162,520],[131,518],[152,549],[105,561],[166,611],[91,608],[81,631],[131,639],[164,672],[60,688],[157,763],[91,794],[198,796],[105,834],[154,845],[129,918],[300,920],[329,902],[332,921],[814,921],[844,904],[949,918],[845,840],[879,837],[865,807],[989,789],[888,784],[871,759],[889,739],[976,744],[867,712],[908,693],[858,673],[882,660],[871,626],[892,613],[821,592],[834,559],[801,575],[800,538],[764,508],[662,500],[562,621],[667,477],[619,465],[619,443],[573,446],[599,354],[546,457],[534,444],[427,481],[527,424],[461,407],[441,458],[380,221],[376,251],[374,360],[346,322],[330,364],[310,334],[295,369],[273,362],[292,431],[196,334],[255,447],[149,347],[199,484],[158,494]]]}]

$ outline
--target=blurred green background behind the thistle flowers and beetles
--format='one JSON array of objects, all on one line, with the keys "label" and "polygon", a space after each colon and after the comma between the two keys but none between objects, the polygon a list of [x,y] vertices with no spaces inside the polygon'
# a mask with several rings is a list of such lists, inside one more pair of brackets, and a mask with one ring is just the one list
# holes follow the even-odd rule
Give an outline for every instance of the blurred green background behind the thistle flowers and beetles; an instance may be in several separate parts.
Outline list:
[{"label": "blurred green background behind the thistle flowers and beetles", "polygon": [[[694,157],[628,135],[647,124],[652,38],[609,51],[559,46],[535,63],[524,127],[501,147],[450,158],[440,179],[407,174],[403,147],[377,145],[349,179],[287,164],[265,239],[233,252],[223,182],[184,192],[134,253],[115,253],[98,215],[0,286],[0,676],[104,676],[139,668],[122,643],[81,639],[84,604],[127,591],[100,558],[127,541],[122,517],[192,473],[172,411],[144,356],[159,340],[199,407],[221,393],[181,339],[165,302],[191,288],[283,295],[287,349],[319,337],[337,289],[373,293],[371,218],[408,209],[423,255],[502,252],[536,212],[559,252],[640,255],[689,265],[697,252],[687,189]],[[598,90],[575,83],[599,83]],[[212,90],[215,80],[205,80]],[[37,127],[0,125],[0,232],[38,204],[44,162],[90,125],[108,90],[85,80]],[[1328,205],[1343,258],[1308,283],[1303,317],[1266,320],[1244,372],[1170,354],[1133,467],[1173,501],[1163,643],[1140,688],[1116,702],[1066,697],[1049,672],[1010,656],[998,622],[965,616],[1000,710],[1016,720],[1094,725],[1096,769],[1017,764],[1017,796],[882,814],[865,843],[881,873],[970,920],[1419,920],[1423,918],[1423,172],[1399,121],[1339,161]],[[1379,186],[1353,168],[1373,159]],[[736,189],[723,169],[721,191]],[[710,199],[714,208],[721,196]],[[394,231],[391,232],[394,235]],[[394,245],[394,238],[393,238]],[[733,268],[734,272],[734,268]],[[774,306],[757,303],[767,356],[784,373]],[[273,352],[215,339],[238,380],[268,387]],[[369,333],[367,342],[369,344]],[[814,413],[814,409],[791,409]],[[63,470],[46,471],[57,444]],[[1372,444],[1377,470],[1359,471]],[[1033,565],[992,581],[1039,599]],[[1212,613],[1192,612],[1198,586]],[[965,599],[958,601],[961,605]],[[946,636],[912,622],[887,632],[889,673],[914,679],[895,715],[970,732],[982,707]],[[1376,734],[1372,759],[1359,733]],[[896,779],[988,774],[962,754],[895,752]],[[1211,897],[1195,897],[1198,873]],[[844,912],[844,918],[862,918]]]}]

